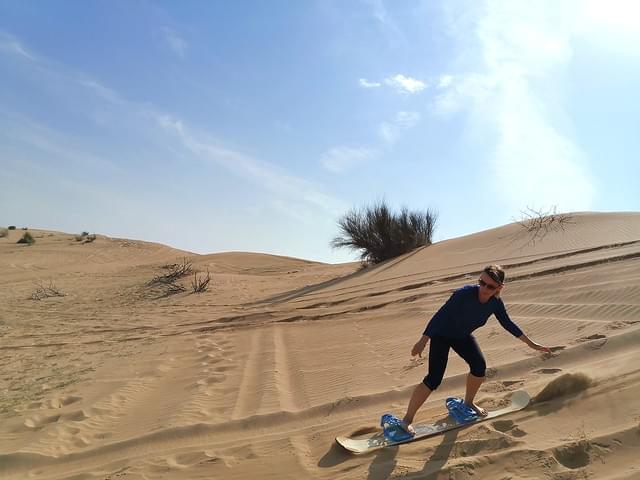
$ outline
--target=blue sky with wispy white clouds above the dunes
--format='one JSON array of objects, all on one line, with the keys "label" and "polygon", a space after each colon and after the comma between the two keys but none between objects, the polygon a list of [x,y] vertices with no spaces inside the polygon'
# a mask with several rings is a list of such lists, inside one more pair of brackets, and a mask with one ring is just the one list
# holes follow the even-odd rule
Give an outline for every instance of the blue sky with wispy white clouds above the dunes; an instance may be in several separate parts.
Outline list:
[{"label": "blue sky with wispy white clouds above the dunes", "polygon": [[0,225],[335,263],[380,199],[638,211],[639,44],[633,0],[0,0]]}]

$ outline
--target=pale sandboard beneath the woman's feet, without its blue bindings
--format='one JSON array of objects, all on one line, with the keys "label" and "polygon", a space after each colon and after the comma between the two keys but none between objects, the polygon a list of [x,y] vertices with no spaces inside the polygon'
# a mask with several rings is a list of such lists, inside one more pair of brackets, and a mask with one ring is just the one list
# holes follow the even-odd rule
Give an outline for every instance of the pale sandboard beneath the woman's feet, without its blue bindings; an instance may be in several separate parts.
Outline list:
[{"label": "pale sandboard beneath the woman's feet, without its blue bindings", "polygon": [[432,437],[440,433],[448,432],[449,430],[454,430],[463,426],[473,425],[474,423],[491,420],[492,418],[500,417],[502,415],[506,415],[507,413],[517,412],[518,410],[522,410],[527,405],[529,405],[530,401],[531,396],[524,390],[520,390],[515,392],[511,396],[511,403],[508,406],[499,410],[489,411],[486,417],[479,417],[477,420],[472,420],[466,423],[458,423],[451,416],[447,416],[446,418],[433,423],[414,425],[413,427],[416,431],[416,434],[415,436],[407,440],[394,442],[386,439],[382,432],[377,432],[357,438],[336,437],[336,442],[338,442],[342,447],[349,450],[350,452],[366,453],[372,450],[377,450],[379,448],[389,447],[392,445],[415,442],[416,440]]}]

